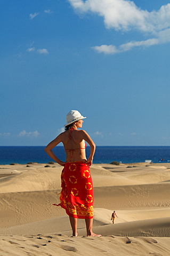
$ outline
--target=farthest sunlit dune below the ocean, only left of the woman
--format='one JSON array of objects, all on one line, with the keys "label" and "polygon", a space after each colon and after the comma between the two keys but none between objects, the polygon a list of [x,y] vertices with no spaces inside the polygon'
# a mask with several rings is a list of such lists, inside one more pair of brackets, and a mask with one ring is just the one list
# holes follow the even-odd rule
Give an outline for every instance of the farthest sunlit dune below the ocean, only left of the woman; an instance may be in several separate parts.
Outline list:
[{"label": "farthest sunlit dune below the ocean, only left of the woman", "polygon": [[[0,193],[60,189],[62,167],[56,165],[54,167],[45,168],[40,165],[38,168],[25,167],[23,169],[22,167],[21,169],[19,165],[15,165],[15,169],[12,169],[11,172],[19,172],[19,174],[1,178]],[[6,170],[9,172],[9,169]]]}]

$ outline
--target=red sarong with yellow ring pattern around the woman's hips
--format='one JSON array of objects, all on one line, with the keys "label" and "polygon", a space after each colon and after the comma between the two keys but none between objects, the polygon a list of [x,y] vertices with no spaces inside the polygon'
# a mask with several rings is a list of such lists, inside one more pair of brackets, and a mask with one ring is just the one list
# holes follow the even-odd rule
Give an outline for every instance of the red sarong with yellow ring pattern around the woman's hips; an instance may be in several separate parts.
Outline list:
[{"label": "red sarong with yellow ring pattern around the woman's hips", "polygon": [[90,168],[83,162],[66,163],[61,173],[60,204],[70,217],[93,218],[93,183]]}]

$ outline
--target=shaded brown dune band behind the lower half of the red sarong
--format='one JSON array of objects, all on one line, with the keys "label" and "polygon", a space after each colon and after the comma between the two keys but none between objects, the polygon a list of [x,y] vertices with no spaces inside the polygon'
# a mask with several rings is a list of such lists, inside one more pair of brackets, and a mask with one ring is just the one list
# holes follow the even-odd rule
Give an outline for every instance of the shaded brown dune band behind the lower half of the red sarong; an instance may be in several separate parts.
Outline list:
[{"label": "shaded brown dune band behind the lower half of the red sarong", "polygon": [[[169,190],[169,183],[95,187],[94,207],[108,210],[169,207]],[[64,210],[52,205],[59,202],[58,193],[60,193],[60,190],[0,194],[0,217],[3,219],[3,227],[21,225],[63,215]]]}]

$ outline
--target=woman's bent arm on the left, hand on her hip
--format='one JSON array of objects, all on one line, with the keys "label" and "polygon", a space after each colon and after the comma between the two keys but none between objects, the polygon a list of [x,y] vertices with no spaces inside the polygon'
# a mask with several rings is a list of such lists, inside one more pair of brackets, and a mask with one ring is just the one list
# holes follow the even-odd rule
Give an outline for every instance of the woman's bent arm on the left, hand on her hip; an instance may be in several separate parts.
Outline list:
[{"label": "woman's bent arm on the left, hand on her hip", "polygon": [[45,152],[50,156],[56,163],[60,164],[61,166],[65,165],[65,162],[62,162],[58,157],[55,156],[52,149],[61,142],[61,134],[58,135],[54,140],[52,140],[44,149]]}]

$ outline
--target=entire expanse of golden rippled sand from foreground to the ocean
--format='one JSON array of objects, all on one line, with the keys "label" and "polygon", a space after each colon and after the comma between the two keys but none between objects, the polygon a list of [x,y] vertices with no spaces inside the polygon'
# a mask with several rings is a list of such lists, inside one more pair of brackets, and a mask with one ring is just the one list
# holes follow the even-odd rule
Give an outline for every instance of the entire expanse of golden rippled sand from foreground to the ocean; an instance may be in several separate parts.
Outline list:
[{"label": "entire expanse of golden rippled sand from foreground to the ocean", "polygon": [[[170,255],[170,164],[93,164],[94,232],[71,236],[58,164],[0,165],[0,256]],[[118,218],[111,222],[116,211]]]}]

